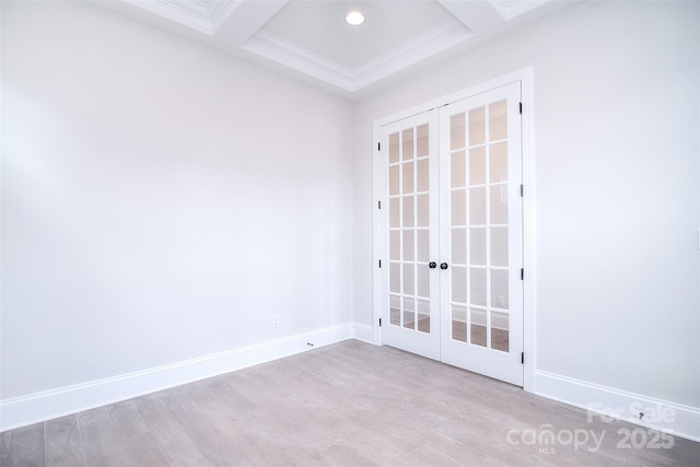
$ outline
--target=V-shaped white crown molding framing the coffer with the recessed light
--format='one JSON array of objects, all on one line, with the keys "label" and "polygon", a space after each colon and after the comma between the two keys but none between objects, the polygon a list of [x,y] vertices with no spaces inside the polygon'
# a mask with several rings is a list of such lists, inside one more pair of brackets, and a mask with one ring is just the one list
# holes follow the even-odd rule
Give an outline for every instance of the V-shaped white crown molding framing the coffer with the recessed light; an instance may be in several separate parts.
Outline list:
[{"label": "V-shaped white crown molding framing the coffer with the recessed light", "polygon": [[448,20],[352,70],[265,30],[258,31],[243,48],[354,92],[472,36],[471,30],[459,21]]}]

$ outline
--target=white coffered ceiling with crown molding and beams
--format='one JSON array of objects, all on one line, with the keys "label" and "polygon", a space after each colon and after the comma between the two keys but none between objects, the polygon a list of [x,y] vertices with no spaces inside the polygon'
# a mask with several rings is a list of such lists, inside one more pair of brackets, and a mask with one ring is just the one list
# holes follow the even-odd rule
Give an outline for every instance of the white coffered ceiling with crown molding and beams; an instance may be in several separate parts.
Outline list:
[{"label": "white coffered ceiling with crown molding and beams", "polygon": [[[341,95],[386,85],[581,0],[92,0]],[[361,11],[363,24],[345,17]]]}]

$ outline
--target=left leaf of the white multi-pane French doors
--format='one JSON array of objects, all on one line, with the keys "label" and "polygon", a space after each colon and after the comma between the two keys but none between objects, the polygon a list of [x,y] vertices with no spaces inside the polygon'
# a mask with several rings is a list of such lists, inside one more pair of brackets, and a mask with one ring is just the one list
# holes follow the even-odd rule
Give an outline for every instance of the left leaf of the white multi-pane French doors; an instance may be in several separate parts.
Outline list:
[{"label": "left leaf of the white multi-pane French doors", "polygon": [[[383,341],[425,357],[439,358],[438,260],[438,113],[431,112],[382,130],[384,166],[381,217],[388,262],[383,301]],[[384,268],[384,267],[383,267]]]}]

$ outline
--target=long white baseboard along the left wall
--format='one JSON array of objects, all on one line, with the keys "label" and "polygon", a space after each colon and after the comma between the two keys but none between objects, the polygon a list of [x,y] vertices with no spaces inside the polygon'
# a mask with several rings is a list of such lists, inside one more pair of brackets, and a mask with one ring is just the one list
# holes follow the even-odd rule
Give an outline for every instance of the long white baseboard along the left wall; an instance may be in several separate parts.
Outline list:
[{"label": "long white baseboard along the left wall", "polygon": [[347,323],[168,365],[5,399],[0,401],[0,432],[257,365],[353,337],[365,340],[366,334],[364,325]]}]

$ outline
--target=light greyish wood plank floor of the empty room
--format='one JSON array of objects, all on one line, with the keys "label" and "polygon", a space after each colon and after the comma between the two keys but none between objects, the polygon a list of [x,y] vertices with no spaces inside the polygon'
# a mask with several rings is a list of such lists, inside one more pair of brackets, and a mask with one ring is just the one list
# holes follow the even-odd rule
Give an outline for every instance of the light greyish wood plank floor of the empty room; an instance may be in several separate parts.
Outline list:
[{"label": "light greyish wood plank floor of the empty room", "polygon": [[[348,340],[3,432],[0,465],[700,464],[700,444],[679,437],[670,448],[618,445],[618,430],[634,429],[588,421],[583,410],[517,387]],[[533,444],[533,435],[548,430],[560,442]],[[584,431],[603,440],[599,448],[593,440],[568,442],[567,433],[583,440]]]}]

